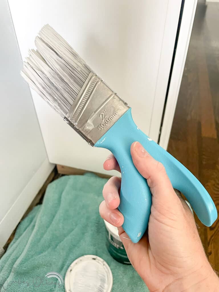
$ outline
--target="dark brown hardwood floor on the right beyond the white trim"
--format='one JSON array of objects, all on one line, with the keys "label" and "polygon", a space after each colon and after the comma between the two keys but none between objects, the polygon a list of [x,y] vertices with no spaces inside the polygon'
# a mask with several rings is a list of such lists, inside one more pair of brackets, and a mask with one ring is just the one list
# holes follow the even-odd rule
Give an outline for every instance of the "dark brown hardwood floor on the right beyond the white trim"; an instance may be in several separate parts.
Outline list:
[{"label": "dark brown hardwood floor on the right beyond the white trim", "polygon": [[[168,152],[201,181],[219,210],[219,3],[198,1]],[[211,227],[197,223],[219,272],[219,218]]]}]

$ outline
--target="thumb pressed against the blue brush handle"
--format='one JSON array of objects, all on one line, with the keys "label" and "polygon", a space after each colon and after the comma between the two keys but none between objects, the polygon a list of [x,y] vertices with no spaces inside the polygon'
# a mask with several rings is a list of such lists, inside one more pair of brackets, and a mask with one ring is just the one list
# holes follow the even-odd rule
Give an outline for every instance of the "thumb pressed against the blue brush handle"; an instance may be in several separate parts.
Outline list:
[{"label": "thumb pressed against the blue brush handle", "polygon": [[178,212],[177,206],[181,207],[181,201],[173,190],[163,164],[155,160],[139,142],[132,143],[131,156],[135,167],[147,180],[153,205],[171,213]]}]

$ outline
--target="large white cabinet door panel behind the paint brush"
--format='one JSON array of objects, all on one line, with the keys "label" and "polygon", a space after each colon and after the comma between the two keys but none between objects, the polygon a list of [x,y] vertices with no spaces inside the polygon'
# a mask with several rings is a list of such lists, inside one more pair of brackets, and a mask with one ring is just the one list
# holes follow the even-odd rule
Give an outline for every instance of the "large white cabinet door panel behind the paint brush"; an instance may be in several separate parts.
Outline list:
[{"label": "large white cabinet door panel behind the paint brush", "polygon": [[[157,140],[181,0],[9,0],[22,58],[49,23],[132,107]],[[91,148],[32,92],[49,161],[104,172],[107,150]]]}]

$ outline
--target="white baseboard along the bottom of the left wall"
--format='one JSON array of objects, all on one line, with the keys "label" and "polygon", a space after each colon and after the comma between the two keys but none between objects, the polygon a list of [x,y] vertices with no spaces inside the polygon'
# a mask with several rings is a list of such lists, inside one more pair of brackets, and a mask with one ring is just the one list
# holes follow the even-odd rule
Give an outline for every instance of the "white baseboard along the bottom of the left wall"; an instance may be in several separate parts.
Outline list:
[{"label": "white baseboard along the bottom of the left wall", "polygon": [[16,201],[8,210],[4,218],[0,222],[0,247],[3,247],[15,227],[20,222],[22,216],[33,201],[36,194],[48,178],[49,174],[54,168],[54,164],[49,163],[46,158],[39,167],[38,171],[34,173],[33,177],[22,190]]}]

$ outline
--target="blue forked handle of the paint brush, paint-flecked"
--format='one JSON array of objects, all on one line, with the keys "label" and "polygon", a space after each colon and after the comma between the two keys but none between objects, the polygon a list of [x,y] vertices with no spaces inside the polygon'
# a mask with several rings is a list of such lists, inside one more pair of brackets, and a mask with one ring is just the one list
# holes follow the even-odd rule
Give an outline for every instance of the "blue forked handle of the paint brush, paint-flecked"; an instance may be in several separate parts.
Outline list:
[{"label": "blue forked handle of the paint brush, paint-flecked", "polygon": [[132,162],[130,146],[134,141],[139,141],[165,166],[173,187],[186,196],[201,222],[211,226],[217,219],[217,209],[206,189],[185,166],[137,128],[129,109],[95,146],[110,150],[119,163],[122,175],[119,211],[124,215],[123,228],[130,239],[136,243],[145,233],[151,209],[147,181]]}]

